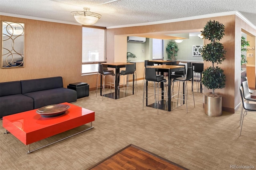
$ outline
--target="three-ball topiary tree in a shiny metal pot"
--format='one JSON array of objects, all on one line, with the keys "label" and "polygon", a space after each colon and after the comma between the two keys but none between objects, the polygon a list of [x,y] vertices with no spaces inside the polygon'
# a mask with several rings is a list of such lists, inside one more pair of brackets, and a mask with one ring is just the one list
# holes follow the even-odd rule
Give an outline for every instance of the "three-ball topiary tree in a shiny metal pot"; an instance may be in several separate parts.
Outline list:
[{"label": "three-ball topiary tree in a shiny metal pot", "polygon": [[221,64],[225,59],[224,47],[219,41],[223,38],[225,26],[217,21],[209,21],[201,31],[204,39],[210,40],[210,43],[204,45],[202,49],[202,58],[204,61],[212,62],[212,66],[203,71],[202,84],[212,92],[205,95],[204,113],[208,116],[222,115],[222,96],[214,93],[215,89],[222,89],[225,87],[226,76],[224,70],[214,63]]}]

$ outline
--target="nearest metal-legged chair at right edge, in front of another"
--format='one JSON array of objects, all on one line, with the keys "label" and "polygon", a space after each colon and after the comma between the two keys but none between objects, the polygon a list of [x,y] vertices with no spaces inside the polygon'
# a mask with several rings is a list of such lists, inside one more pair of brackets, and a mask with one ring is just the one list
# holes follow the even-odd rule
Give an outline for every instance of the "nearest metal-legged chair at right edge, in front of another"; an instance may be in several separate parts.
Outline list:
[{"label": "nearest metal-legged chair at right edge, in front of another", "polygon": [[241,112],[241,118],[240,118],[241,129],[240,129],[240,135],[239,136],[241,136],[244,116],[247,115],[247,112],[256,112],[256,104],[254,104],[254,103],[246,103],[244,101],[244,93],[242,93],[242,91],[244,91],[244,88],[240,87],[240,95],[241,95],[241,100],[242,100],[242,109],[244,109],[244,112]]}]

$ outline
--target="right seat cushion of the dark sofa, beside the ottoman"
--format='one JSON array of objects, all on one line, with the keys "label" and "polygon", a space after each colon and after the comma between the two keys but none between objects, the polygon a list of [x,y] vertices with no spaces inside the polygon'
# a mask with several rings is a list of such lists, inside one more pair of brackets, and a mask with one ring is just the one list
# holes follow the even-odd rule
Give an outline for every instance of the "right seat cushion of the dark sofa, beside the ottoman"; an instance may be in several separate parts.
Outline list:
[{"label": "right seat cushion of the dark sofa, beside the ottoman", "polygon": [[34,109],[64,102],[72,103],[77,99],[75,90],[63,87],[25,93],[24,95],[34,99]]}]

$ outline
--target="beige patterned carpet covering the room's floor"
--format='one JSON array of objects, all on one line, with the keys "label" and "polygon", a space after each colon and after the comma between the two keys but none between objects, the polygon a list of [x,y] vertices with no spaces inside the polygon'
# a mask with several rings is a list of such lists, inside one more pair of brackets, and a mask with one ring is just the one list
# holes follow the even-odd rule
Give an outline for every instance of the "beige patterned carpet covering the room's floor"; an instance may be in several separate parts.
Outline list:
[{"label": "beige patterned carpet covering the room's floor", "polygon": [[[191,83],[189,93],[191,93]],[[12,134],[3,134],[0,121],[1,170],[84,170],[100,160],[134,144],[191,170],[229,170],[230,165],[256,167],[256,114],[248,113],[239,136],[240,110],[235,114],[208,117],[202,107],[202,93],[194,93],[196,107],[186,105],[171,112],[144,107],[142,81],[138,93],[123,99],[109,99],[90,91],[75,105],[95,111],[94,128],[26,154],[28,148]],[[153,100],[152,100],[153,101]],[[88,125],[31,144],[31,149],[48,144]]]}]

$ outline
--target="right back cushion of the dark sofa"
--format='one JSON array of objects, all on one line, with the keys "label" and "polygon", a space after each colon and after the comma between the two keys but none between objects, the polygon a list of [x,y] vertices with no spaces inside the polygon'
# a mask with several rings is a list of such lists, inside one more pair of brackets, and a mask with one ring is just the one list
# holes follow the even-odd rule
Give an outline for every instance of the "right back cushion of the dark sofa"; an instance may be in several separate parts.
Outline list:
[{"label": "right back cushion of the dark sofa", "polygon": [[49,77],[20,81],[22,94],[63,87],[62,77]]}]

